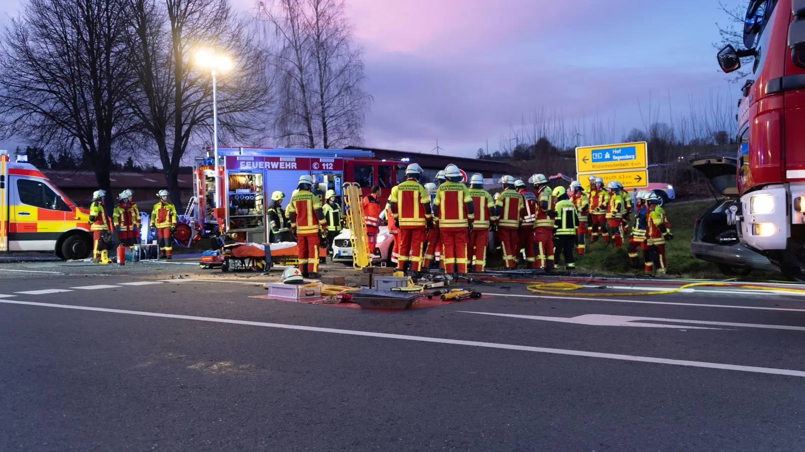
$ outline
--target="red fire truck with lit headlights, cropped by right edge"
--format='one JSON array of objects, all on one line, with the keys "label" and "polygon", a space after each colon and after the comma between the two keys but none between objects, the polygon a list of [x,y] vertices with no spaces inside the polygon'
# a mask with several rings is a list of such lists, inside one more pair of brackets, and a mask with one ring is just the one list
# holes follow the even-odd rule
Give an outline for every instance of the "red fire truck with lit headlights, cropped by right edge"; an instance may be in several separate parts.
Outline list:
[{"label": "red fire truck with lit headlights, cropped by right edge", "polygon": [[728,45],[717,55],[724,72],[753,57],[736,117],[732,177],[740,200],[726,220],[741,244],[805,279],[805,0],[751,0],[743,41],[745,48]]}]

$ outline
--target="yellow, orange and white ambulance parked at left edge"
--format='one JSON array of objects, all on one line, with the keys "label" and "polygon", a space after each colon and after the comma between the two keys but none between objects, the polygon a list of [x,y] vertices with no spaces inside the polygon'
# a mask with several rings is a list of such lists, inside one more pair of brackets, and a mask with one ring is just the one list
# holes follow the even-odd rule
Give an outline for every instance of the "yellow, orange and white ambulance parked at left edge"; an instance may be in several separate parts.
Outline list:
[{"label": "yellow, orange and white ambulance parked at left edge", "polygon": [[47,176],[0,150],[0,252],[47,252],[85,259],[92,251],[89,210],[79,208]]}]

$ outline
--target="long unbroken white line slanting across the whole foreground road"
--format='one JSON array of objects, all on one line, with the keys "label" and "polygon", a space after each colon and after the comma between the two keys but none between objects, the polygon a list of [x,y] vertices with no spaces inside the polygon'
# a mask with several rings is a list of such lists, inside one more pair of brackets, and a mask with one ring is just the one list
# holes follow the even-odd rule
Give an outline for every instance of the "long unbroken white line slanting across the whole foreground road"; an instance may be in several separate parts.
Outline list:
[{"label": "long unbroken white line slanting across the whole foreground road", "polygon": [[476,341],[458,340],[458,339],[430,338],[425,336],[393,335],[388,333],[375,333],[372,331],[354,331],[354,330],[339,330],[336,328],[304,327],[301,325],[286,325],[283,323],[251,322],[247,320],[233,320],[230,318],[196,317],[195,315],[162,314],[158,312],[146,312],[140,310],[120,310],[120,309],[109,309],[109,308],[91,307],[91,306],[57,305],[53,303],[22,302],[15,300],[0,300],[0,303],[27,305],[27,306],[56,307],[61,309],[72,309],[72,310],[90,310],[97,312],[109,312],[114,314],[143,315],[148,317],[181,318],[184,320],[197,320],[200,322],[230,323],[237,325],[249,325],[253,327],[281,328],[285,330],[297,330],[297,331],[316,331],[321,333],[334,333],[339,335],[368,336],[383,339],[401,339],[401,340],[411,340],[411,341],[429,342],[429,343],[448,343],[452,345],[464,345],[471,347],[487,347],[487,348],[497,348],[504,350],[532,351],[536,353],[548,353],[552,355],[584,356],[589,358],[603,358],[607,360],[635,361],[639,363],[652,363],[652,364],[672,364],[676,366],[687,366],[694,368],[713,368],[713,369],[722,369],[722,370],[739,371],[739,372],[754,372],[754,373],[763,373],[772,375],[805,377],[805,372],[791,369],[758,368],[754,366],[741,366],[737,364],[707,363],[704,361],[668,360],[665,358],[654,358],[650,356],[616,355],[613,353],[600,353],[597,351],[564,350],[561,348],[530,347],[526,345],[514,345],[508,343],[490,343],[490,342],[476,342]]}]

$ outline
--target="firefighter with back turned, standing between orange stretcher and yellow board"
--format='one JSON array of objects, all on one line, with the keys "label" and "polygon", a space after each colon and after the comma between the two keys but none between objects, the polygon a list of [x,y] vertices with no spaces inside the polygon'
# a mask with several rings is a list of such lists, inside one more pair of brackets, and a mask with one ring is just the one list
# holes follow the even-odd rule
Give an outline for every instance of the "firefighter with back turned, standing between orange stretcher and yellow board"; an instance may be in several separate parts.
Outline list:
[{"label": "firefighter with back turned, standing between orange stretcher and yellow board", "polygon": [[327,225],[319,197],[313,194],[312,187],[313,179],[309,175],[299,176],[299,186],[285,211],[285,216],[291,220],[291,235],[296,236],[302,277],[319,277],[319,236]]}]

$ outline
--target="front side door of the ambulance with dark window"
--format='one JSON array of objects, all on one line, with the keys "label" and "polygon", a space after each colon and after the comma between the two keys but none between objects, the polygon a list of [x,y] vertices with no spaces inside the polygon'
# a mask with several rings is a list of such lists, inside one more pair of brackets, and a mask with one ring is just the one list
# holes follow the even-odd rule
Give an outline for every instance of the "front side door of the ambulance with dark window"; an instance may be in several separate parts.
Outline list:
[{"label": "front side door of the ambulance with dark window", "polygon": [[45,179],[10,175],[9,182],[10,251],[54,251],[72,208]]}]

